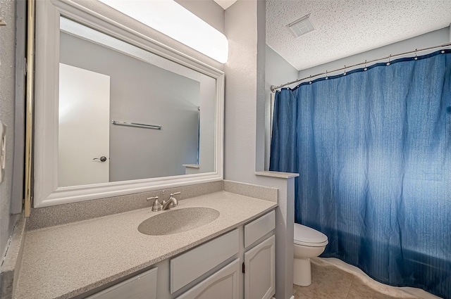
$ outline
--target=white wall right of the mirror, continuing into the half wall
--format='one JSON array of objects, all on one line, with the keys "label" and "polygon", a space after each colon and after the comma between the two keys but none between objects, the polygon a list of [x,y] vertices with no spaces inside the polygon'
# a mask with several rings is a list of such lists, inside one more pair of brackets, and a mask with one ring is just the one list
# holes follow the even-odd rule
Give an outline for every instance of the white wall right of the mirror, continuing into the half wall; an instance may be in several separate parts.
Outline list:
[{"label": "white wall right of the mirror, continuing into the half wall", "polygon": [[294,179],[259,177],[264,169],[265,2],[238,0],[226,9],[225,179],[278,188],[276,295],[292,296]]}]

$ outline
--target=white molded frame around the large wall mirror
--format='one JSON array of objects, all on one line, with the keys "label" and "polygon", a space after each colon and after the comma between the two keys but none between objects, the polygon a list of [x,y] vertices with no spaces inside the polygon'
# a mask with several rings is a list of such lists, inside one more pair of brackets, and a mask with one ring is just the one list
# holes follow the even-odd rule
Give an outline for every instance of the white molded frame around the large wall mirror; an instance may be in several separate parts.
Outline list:
[{"label": "white molded frame around the large wall mirror", "polygon": [[[59,20],[65,15],[216,79],[215,171],[58,188]],[[223,179],[224,73],[70,0],[36,3],[34,208]]]}]

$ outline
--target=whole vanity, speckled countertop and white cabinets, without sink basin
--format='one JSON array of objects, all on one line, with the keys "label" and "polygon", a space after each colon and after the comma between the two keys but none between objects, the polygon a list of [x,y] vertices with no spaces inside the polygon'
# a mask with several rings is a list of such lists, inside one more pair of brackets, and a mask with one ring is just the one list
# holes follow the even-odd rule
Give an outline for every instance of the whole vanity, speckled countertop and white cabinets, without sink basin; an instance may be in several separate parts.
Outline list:
[{"label": "whole vanity, speckled countertop and white cabinets, without sink basin", "polygon": [[[219,215],[175,234],[137,229],[149,217],[190,208]],[[16,298],[271,298],[274,208],[221,191],[168,211],[146,208],[28,231]]]}]

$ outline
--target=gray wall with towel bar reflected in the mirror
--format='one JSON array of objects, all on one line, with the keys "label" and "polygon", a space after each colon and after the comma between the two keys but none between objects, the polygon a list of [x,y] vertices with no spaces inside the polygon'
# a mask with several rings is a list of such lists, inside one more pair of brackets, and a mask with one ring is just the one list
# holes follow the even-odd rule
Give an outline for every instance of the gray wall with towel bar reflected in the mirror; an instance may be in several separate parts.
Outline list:
[{"label": "gray wall with towel bar reflected in the mirror", "polygon": [[[61,63],[110,76],[110,182],[185,174],[197,164],[200,84],[149,63],[61,33]],[[93,130],[94,131],[94,130]]]}]

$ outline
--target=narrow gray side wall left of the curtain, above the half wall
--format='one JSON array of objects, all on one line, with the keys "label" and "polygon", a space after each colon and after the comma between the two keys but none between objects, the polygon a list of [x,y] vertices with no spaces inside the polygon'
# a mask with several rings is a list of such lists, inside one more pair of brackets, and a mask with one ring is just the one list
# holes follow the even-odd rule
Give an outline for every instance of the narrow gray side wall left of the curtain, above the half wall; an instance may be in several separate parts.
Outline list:
[{"label": "narrow gray side wall left of the curtain, above the half wall", "polygon": [[265,170],[268,170],[271,153],[271,85],[292,82],[297,79],[298,72],[268,45],[266,45],[265,66]]}]

